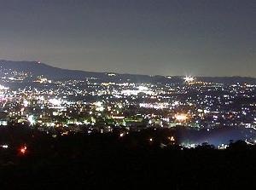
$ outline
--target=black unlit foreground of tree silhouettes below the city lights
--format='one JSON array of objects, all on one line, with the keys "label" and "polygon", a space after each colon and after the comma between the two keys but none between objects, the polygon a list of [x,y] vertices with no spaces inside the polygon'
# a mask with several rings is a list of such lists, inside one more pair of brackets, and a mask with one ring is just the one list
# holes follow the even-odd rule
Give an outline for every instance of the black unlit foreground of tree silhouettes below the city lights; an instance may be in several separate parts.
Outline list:
[{"label": "black unlit foreground of tree silhouettes below the city lights", "polygon": [[[0,152],[1,189],[256,187],[256,148],[242,141],[216,150],[208,145],[160,147],[158,142],[120,140],[113,134],[52,138],[12,132],[10,136],[13,147]],[[20,154],[19,146],[25,141],[27,152]]]}]

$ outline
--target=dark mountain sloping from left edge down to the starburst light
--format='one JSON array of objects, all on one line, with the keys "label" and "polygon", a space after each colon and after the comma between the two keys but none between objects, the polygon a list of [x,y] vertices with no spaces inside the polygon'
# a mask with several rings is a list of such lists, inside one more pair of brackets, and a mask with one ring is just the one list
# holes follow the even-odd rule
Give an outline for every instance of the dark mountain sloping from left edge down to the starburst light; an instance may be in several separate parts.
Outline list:
[{"label": "dark mountain sloping from left edge down to the starburst light", "polygon": [[[14,61],[14,60],[0,60],[0,69],[11,70],[16,72],[28,72],[32,76],[44,75],[49,79],[81,79],[85,78],[97,78],[102,81],[123,81],[123,82],[141,82],[141,83],[157,83],[166,80],[163,76],[150,77],[148,75],[137,74],[118,74],[109,72],[84,72],[78,70],[61,69],[54,66],[49,66],[45,63],[39,63],[37,61]],[[182,79],[174,77],[172,81],[177,80],[181,82]],[[170,81],[170,78],[167,78]]]}]

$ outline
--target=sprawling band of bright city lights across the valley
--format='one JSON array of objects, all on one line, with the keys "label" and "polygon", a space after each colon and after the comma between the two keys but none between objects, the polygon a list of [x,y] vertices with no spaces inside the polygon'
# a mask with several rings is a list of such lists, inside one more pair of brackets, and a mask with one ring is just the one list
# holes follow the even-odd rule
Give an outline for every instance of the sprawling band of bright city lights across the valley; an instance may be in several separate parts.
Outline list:
[{"label": "sprawling band of bright city lights across the valley", "polygon": [[[14,81],[23,85],[29,78],[30,72],[4,70],[2,79],[4,85]],[[32,80],[38,88],[2,88],[0,126],[28,124],[46,133],[61,130],[60,134],[87,128],[86,134],[90,134],[111,133],[119,128],[138,132],[152,127],[173,129],[180,125],[208,133],[227,126],[256,129],[255,102],[243,102],[234,109],[234,100],[255,98],[253,83],[207,83],[198,78],[197,85],[184,85],[180,80],[143,83],[131,78],[124,81],[118,74],[114,78],[117,80],[53,79],[50,85]],[[172,79],[175,77],[168,78]],[[183,79],[195,83],[194,77]]]}]

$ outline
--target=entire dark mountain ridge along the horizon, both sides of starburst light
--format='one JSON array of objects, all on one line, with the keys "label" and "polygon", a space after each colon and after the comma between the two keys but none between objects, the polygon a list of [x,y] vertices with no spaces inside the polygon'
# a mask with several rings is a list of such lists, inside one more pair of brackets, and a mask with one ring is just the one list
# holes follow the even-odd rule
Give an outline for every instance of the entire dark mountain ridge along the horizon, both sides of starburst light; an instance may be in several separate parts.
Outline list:
[{"label": "entire dark mountain ridge along the horizon, both sides of starburst light", "polygon": [[[79,79],[97,78],[102,82],[138,82],[138,83],[183,83],[183,77],[148,76],[138,74],[118,74],[109,72],[84,72],[61,69],[37,61],[0,60],[0,71],[27,72],[32,77],[43,75],[49,79]],[[1,72],[2,73],[2,72]],[[256,83],[256,78],[245,77],[198,77],[197,80],[214,83]]]}]

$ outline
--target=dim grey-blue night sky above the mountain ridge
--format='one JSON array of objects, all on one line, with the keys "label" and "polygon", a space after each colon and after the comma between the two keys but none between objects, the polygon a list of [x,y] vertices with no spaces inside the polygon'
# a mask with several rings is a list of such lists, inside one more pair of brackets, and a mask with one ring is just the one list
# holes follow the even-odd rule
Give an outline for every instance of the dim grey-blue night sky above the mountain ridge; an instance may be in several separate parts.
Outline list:
[{"label": "dim grey-blue night sky above the mountain ridge", "polygon": [[0,0],[0,59],[256,77],[255,0]]}]

